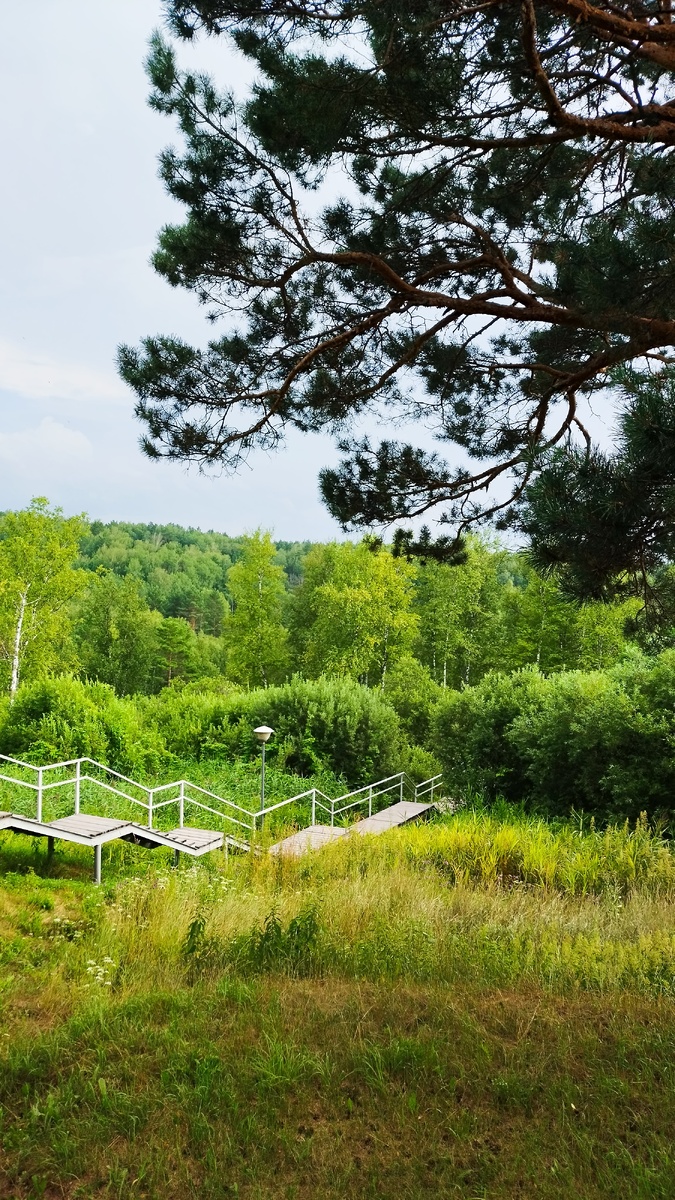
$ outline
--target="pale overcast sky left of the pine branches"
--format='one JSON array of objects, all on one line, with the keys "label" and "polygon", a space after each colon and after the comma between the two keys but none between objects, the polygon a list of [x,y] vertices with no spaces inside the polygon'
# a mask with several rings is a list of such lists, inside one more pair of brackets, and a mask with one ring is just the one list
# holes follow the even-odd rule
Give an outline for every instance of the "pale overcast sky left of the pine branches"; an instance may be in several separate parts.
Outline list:
[{"label": "pale overcast sky left of the pine branches", "polygon": [[[317,494],[328,439],[292,438],[235,478],[153,463],[138,449],[115,348],[148,334],[203,342],[204,317],[149,266],[180,220],[156,158],[177,140],[147,106],[160,0],[0,0],[0,509],[47,496],[106,521],[174,521],[283,539],[339,535]],[[247,67],[220,42],[184,62],[241,91]]]}]

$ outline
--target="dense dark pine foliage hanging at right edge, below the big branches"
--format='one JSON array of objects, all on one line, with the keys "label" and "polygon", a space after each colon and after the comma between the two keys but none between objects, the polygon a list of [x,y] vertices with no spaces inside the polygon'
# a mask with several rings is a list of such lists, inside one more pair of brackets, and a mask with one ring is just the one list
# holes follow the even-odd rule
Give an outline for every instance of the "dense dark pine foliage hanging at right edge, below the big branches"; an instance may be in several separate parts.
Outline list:
[{"label": "dense dark pine foliage hanging at right edge, below the big branches", "polygon": [[638,592],[649,619],[673,612],[661,569],[675,556],[675,373],[620,372],[625,395],[614,456],[574,448],[554,451],[527,488],[521,526],[531,558],[555,571],[574,599]]}]

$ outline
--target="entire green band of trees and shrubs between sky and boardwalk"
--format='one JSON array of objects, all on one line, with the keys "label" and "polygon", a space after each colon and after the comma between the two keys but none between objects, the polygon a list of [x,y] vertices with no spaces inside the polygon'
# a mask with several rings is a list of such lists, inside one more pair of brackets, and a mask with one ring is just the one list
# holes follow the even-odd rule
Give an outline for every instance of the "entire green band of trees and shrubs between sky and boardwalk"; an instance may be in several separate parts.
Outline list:
[{"label": "entire green band of trees and shrubs between sky and boardwalk", "polygon": [[[0,517],[0,752],[156,778],[252,760],[269,724],[270,761],[303,775],[442,769],[455,797],[669,818],[673,628],[645,630],[635,599],[574,605],[477,538],[449,566],[372,540],[94,529],[46,500]],[[151,607],[157,570],[220,598],[217,635]]]}]

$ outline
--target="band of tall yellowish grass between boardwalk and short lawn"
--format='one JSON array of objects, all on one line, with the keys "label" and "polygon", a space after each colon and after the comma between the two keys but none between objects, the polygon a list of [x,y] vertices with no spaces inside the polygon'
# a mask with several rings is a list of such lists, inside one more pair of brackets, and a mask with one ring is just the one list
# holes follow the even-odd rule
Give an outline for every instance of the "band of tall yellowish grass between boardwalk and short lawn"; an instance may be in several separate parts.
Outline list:
[{"label": "band of tall yellowish grass between boardwalk and short lawn", "polygon": [[91,905],[80,937],[38,918],[61,936],[55,976],[83,994],[267,971],[675,994],[675,857],[644,821],[470,811],[299,859],[151,869]]}]

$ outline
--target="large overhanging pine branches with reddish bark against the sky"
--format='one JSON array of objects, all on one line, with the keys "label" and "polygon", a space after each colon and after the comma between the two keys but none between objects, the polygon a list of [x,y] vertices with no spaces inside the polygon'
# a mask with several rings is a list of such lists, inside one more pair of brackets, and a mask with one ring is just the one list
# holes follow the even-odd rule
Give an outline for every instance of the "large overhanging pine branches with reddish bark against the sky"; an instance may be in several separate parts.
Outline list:
[{"label": "large overhanging pine branches with reddish bark against the sky", "polygon": [[[204,349],[120,352],[150,454],[237,466],[287,427],[336,430],[346,457],[322,491],[346,527],[436,510],[461,528],[508,505],[497,478],[518,496],[548,448],[584,437],[580,401],[607,410],[608,371],[675,344],[668,5],[166,10],[178,37],[229,36],[258,74],[237,104],[160,38],[150,55],[151,103],[184,139],[162,176],[186,210],[155,266],[227,318]],[[359,439],[382,404],[460,464]]]}]

